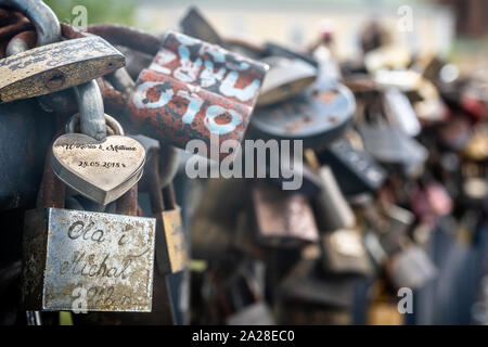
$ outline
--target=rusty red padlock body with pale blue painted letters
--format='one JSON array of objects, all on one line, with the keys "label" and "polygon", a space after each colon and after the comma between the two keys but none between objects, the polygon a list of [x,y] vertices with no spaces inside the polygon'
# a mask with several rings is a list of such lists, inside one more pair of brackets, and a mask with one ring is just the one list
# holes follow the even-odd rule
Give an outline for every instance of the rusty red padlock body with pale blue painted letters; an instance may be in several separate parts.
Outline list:
[{"label": "rusty red padlock body with pale blue painted letters", "polygon": [[[163,49],[139,76],[129,100],[142,133],[184,149],[244,138],[267,65],[220,47],[167,33]],[[209,151],[208,151],[209,153]],[[229,155],[221,153],[220,159]]]}]

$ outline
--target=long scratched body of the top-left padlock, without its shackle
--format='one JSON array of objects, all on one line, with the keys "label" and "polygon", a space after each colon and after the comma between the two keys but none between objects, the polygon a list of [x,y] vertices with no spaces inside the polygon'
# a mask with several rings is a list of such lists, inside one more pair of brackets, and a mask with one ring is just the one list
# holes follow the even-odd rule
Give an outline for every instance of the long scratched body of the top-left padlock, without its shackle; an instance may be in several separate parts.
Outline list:
[{"label": "long scratched body of the top-left padlock, without its shackle", "polygon": [[124,64],[124,55],[100,37],[35,48],[0,61],[0,100],[8,102],[66,89]]}]

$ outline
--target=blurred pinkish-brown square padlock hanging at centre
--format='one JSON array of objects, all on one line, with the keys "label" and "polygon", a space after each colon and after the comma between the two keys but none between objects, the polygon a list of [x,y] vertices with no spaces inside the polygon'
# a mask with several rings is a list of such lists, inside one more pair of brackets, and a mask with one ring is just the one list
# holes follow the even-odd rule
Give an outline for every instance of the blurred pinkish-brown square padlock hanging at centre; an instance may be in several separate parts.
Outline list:
[{"label": "blurred pinkish-brown square padlock hanging at centre", "polygon": [[311,206],[304,194],[266,183],[253,187],[257,239],[279,247],[296,247],[319,240]]}]

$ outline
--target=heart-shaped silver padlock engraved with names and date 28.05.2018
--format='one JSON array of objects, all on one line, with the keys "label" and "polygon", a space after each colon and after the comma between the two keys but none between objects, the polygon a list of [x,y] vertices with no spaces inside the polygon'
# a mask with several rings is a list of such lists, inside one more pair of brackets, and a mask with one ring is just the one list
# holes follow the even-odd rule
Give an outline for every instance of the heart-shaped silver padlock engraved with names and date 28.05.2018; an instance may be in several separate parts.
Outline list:
[{"label": "heart-shaped silver padlock engraved with names and date 28.05.2018", "polygon": [[142,176],[144,147],[124,136],[124,129],[113,117],[105,120],[115,134],[99,141],[84,133],[75,133],[79,114],[66,125],[66,133],[52,145],[53,172],[66,185],[81,195],[106,205],[126,193]]}]

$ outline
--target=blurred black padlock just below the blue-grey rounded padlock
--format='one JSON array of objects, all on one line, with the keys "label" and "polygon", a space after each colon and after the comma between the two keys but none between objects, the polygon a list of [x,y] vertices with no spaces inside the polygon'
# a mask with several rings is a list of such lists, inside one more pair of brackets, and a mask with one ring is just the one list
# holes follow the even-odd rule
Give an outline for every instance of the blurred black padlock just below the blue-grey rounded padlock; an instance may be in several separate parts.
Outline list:
[{"label": "blurred black padlock just below the blue-grey rounded padlock", "polygon": [[319,153],[321,163],[331,167],[341,191],[356,195],[383,185],[386,171],[365,151],[356,150],[347,139],[338,139]]}]

